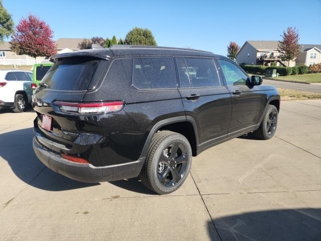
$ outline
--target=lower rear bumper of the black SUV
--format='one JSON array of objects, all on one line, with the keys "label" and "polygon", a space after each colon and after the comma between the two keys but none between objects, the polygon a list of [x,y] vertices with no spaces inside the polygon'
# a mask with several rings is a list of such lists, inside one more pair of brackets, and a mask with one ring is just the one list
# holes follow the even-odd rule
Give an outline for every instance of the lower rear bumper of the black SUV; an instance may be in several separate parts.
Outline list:
[{"label": "lower rear bumper of the black SUV", "polygon": [[137,177],[144,163],[143,158],[134,162],[104,167],[74,163],[45,149],[37,141],[37,137],[33,139],[33,148],[39,160],[49,169],[80,182],[96,183]]}]

